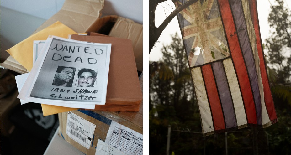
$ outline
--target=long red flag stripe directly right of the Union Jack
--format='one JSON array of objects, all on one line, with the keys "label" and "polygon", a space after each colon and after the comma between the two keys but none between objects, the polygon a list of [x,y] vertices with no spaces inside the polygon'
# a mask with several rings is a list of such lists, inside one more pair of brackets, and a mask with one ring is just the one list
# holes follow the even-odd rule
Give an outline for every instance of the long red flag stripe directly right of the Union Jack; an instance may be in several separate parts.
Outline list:
[{"label": "long red flag stripe directly right of the Union Jack", "polygon": [[231,57],[235,66],[239,85],[241,87],[242,98],[246,109],[248,123],[257,124],[256,108],[252,97],[251,85],[246,71],[246,65],[241,53],[238,36],[235,30],[230,5],[227,0],[218,0],[222,21],[225,27],[226,38],[228,40]]}]

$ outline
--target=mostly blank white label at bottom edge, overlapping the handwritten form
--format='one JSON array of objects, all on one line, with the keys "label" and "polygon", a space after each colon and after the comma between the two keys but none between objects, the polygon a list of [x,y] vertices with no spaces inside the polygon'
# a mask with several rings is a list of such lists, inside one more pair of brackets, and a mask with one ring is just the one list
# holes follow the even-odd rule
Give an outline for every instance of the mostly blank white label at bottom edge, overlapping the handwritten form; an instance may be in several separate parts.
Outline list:
[{"label": "mostly blank white label at bottom edge, overlapping the handwritten form", "polygon": [[95,155],[127,155],[127,154],[98,139]]}]

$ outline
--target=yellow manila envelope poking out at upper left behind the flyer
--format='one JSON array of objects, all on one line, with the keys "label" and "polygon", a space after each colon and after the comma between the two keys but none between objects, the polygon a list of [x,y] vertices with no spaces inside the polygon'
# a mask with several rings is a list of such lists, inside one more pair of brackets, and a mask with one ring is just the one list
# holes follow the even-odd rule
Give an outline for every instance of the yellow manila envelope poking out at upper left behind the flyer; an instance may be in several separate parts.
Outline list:
[{"label": "yellow manila envelope poking out at upper left behind the flyer", "polygon": [[16,61],[18,61],[28,71],[33,65],[33,41],[46,40],[49,35],[55,35],[62,38],[68,38],[70,34],[77,34],[71,28],[57,21],[47,28],[29,36],[12,48],[6,50]]}]

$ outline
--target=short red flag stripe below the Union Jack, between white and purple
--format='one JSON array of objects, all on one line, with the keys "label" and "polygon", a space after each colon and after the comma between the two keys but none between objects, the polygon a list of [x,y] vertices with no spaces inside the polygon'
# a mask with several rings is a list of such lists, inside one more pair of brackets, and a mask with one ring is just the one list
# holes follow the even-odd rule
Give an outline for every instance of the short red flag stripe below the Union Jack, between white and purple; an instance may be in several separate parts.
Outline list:
[{"label": "short red flag stripe below the Union Jack, between white and purple", "polygon": [[219,100],[211,65],[208,64],[202,66],[202,73],[204,77],[206,92],[209,98],[210,109],[212,111],[214,130],[225,129],[225,122],[221,109],[221,103]]}]

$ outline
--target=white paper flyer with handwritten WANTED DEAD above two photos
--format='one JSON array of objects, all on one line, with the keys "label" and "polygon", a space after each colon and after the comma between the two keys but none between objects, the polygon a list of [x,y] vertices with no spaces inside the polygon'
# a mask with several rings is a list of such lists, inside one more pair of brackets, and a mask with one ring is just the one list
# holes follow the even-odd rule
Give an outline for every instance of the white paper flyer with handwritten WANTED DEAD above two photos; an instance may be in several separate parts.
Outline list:
[{"label": "white paper flyer with handwritten WANTED DEAD above two photos", "polygon": [[111,44],[47,39],[18,98],[51,105],[104,105],[110,51]]}]

